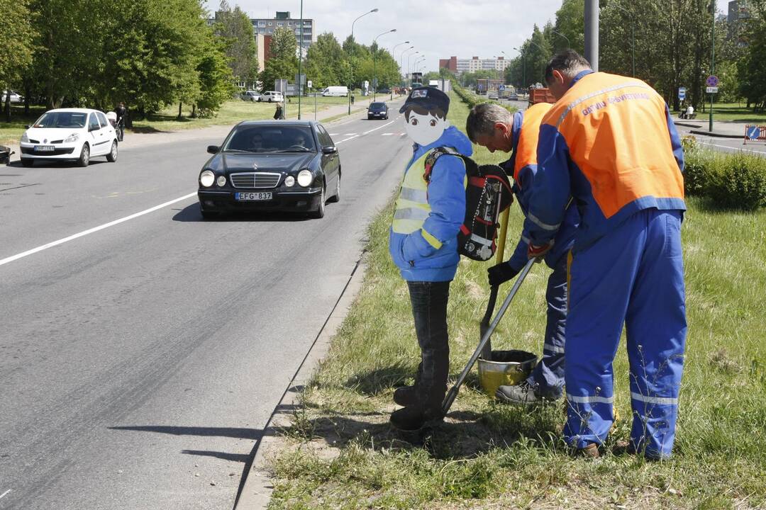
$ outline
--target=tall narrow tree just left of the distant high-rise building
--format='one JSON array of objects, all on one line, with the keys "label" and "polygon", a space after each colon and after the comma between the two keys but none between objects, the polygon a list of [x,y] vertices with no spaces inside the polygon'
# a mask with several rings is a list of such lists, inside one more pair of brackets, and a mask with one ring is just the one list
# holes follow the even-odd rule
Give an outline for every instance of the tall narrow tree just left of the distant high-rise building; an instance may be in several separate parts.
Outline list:
[{"label": "tall narrow tree just left of the distant high-rise building", "polygon": [[234,77],[254,83],[258,76],[258,50],[253,24],[239,6],[231,9],[226,0],[215,13],[214,32],[226,41],[226,57]]}]

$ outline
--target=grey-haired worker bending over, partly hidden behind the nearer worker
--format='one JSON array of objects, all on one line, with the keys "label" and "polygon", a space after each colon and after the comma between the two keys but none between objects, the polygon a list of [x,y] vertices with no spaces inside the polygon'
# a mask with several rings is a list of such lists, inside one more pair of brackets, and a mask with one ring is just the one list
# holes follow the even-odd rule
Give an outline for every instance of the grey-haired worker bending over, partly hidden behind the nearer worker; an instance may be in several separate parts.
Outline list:
[{"label": "grey-haired worker bending over, partly hidden behind the nearer worker", "polygon": [[[526,215],[529,211],[529,188],[537,171],[537,146],[540,122],[551,109],[548,102],[539,102],[525,112],[512,114],[508,109],[483,102],[471,109],[466,120],[468,138],[490,152],[512,153],[500,166],[513,177],[516,202]],[[567,317],[567,254],[575,242],[575,230],[580,215],[575,204],[566,211],[564,224],[558,229],[553,248],[545,254],[545,264],[553,270],[548,277],[545,300],[548,322],[542,356],[532,373],[519,385],[503,385],[496,398],[507,404],[535,404],[561,398],[564,390],[564,348]],[[513,255],[487,270],[489,285],[509,281],[527,262],[529,233],[522,229]]]}]

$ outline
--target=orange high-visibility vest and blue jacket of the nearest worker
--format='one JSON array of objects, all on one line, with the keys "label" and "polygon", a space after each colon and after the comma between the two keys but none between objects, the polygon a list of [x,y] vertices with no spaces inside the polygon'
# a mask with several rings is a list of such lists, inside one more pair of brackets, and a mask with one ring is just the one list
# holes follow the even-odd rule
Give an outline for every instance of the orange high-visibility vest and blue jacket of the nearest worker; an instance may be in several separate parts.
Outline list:
[{"label": "orange high-visibility vest and blue jacket of the nearest worker", "polygon": [[570,197],[584,249],[639,210],[686,210],[683,149],[663,98],[635,78],[583,71],[542,119],[525,228],[552,239]]}]

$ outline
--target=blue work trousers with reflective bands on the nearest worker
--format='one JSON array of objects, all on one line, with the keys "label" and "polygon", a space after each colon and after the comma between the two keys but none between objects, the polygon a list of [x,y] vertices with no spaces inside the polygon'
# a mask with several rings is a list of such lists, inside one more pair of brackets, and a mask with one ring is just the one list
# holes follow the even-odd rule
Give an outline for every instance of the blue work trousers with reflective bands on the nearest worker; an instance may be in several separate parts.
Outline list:
[{"label": "blue work trousers with reflective bands on the nearest worker", "polygon": [[570,256],[564,436],[575,447],[607,438],[624,325],[633,447],[655,459],[673,450],[686,343],[682,218],[677,210],[639,211]]}]

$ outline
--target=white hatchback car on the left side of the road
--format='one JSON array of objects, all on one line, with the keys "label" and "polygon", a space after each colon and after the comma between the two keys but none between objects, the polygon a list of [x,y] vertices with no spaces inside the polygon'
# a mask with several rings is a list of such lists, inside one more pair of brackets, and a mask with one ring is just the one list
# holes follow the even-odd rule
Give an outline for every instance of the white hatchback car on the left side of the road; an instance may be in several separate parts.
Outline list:
[{"label": "white hatchback car on the left side of the road", "polygon": [[90,158],[117,161],[117,135],[103,112],[84,108],[45,112],[21,135],[21,164],[70,160],[87,167]]}]

